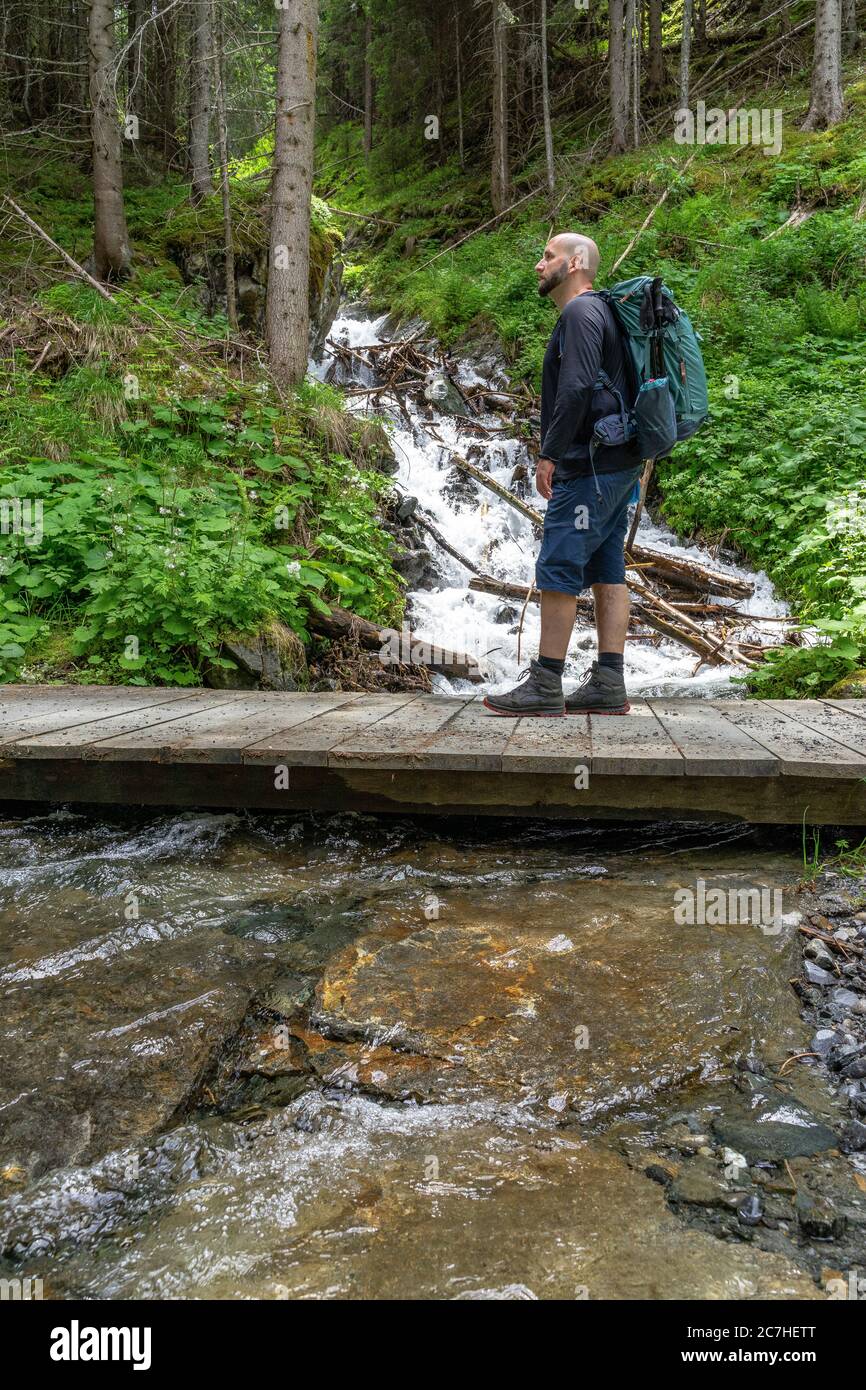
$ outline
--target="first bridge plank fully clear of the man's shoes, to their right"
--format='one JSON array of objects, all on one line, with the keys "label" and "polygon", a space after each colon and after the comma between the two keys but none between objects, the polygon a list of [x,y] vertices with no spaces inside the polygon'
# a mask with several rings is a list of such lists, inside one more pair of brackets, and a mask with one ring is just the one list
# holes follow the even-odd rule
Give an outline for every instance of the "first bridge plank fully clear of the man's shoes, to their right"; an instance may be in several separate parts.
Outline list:
[{"label": "first bridge plank fully clear of the man's shoes, to their right", "polygon": [[773,777],[778,759],[728,720],[721,701],[651,699],[649,708],[684,758],[687,777]]}]

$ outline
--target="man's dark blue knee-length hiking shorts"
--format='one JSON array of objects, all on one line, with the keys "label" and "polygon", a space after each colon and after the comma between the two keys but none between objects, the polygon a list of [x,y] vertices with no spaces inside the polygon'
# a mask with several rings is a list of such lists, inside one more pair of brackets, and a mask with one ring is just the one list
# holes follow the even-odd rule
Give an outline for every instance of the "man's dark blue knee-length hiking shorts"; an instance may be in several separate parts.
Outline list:
[{"label": "man's dark blue knee-length hiking shorts", "polygon": [[553,474],[553,495],[535,564],[539,589],[581,594],[592,584],[626,582],[628,502],[639,477],[641,466],[599,473],[598,480],[592,474],[587,478]]}]

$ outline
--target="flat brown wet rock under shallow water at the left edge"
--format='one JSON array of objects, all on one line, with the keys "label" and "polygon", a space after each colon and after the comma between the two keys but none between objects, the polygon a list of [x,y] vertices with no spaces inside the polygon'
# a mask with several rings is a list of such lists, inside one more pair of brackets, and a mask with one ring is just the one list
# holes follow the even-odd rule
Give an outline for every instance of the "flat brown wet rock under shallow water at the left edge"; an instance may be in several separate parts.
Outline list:
[{"label": "flat brown wet rock under shallow water at the left edge", "polygon": [[[231,937],[126,952],[122,972],[24,976],[6,987],[0,1172],[10,1186],[157,1133],[234,1036],[274,972]],[[4,1184],[6,1186],[6,1184]]]}]

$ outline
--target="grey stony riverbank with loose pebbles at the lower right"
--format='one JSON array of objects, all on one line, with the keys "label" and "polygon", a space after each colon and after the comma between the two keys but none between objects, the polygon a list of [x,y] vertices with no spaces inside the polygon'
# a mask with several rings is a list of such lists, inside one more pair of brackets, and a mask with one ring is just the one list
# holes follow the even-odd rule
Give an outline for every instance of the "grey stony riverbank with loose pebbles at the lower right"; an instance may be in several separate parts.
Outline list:
[{"label": "grey stony riverbank with loose pebbles at the lower right", "polygon": [[[790,986],[809,1037],[781,1065],[741,1054],[733,1087],[670,1118],[642,1170],[719,1238],[802,1262],[827,1297],[862,1297],[866,1252],[866,876],[824,869],[796,894]],[[799,1072],[799,1076],[795,1073]],[[783,1080],[784,1077],[784,1080]],[[632,1147],[631,1161],[646,1156]],[[721,1163],[721,1176],[719,1165]]]}]

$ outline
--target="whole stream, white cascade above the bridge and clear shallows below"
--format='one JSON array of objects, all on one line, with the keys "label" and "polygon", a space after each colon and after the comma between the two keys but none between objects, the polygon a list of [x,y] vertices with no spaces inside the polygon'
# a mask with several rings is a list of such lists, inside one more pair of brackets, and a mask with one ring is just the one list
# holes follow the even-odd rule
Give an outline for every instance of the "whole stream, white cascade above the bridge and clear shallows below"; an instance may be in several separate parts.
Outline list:
[{"label": "whole stream, white cascade above the bridge and clear shallows below", "polygon": [[[530,581],[528,523],[448,486],[450,452],[507,484],[523,445],[439,413],[434,438],[427,414],[395,423],[402,489]],[[435,570],[414,626],[513,681],[502,600]],[[753,612],[783,613],[752,578]],[[570,676],[591,645],[578,630]],[[627,674],[731,692],[694,663],[634,642]],[[828,1188],[856,1216],[838,1099],[780,1074],[810,1037],[790,833],[4,815],[0,1275],[46,1298],[787,1300],[853,1258],[812,1236]],[[701,883],[777,895],[771,926],[683,920]]]}]

